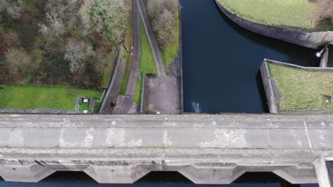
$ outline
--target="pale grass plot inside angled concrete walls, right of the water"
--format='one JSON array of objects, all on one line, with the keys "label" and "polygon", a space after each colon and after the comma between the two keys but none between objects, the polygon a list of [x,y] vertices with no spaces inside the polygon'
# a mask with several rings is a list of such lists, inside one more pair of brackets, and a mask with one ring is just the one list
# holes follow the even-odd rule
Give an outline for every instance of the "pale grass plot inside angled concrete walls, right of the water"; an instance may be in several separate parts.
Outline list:
[{"label": "pale grass plot inside angled concrete walls, right of the water", "polygon": [[333,102],[326,102],[333,96],[333,72],[309,72],[270,63],[268,68],[282,94],[281,110],[333,108]]}]

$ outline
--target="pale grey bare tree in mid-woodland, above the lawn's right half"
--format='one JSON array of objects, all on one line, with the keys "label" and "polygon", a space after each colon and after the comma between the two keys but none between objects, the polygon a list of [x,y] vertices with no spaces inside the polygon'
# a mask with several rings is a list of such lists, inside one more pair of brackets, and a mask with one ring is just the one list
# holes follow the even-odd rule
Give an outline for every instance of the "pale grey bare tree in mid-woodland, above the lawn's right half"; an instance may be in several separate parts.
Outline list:
[{"label": "pale grey bare tree in mid-woodland, above the lawn's right half", "polygon": [[93,47],[85,42],[74,42],[69,40],[65,47],[64,59],[70,62],[70,72],[78,73],[85,69],[85,60],[91,55],[95,55]]}]

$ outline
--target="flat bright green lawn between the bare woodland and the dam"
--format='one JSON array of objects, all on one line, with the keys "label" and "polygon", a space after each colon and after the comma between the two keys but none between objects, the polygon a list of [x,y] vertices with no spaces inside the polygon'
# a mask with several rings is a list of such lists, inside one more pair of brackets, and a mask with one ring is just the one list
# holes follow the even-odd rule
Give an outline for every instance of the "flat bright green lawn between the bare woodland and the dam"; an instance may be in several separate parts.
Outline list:
[{"label": "flat bright green lawn between the bare woodland and the dam", "polygon": [[101,91],[77,89],[65,86],[21,86],[0,84],[0,108],[54,108],[75,110],[78,96],[90,96],[97,100]]}]

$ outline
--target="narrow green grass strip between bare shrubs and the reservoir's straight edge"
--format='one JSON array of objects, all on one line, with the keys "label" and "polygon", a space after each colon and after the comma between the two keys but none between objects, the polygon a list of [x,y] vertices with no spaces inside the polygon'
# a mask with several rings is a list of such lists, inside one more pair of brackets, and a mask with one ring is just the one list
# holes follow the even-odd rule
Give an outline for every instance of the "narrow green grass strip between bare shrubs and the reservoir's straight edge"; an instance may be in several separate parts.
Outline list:
[{"label": "narrow green grass strip between bare shrubs and the reservoir's straight edge", "polygon": [[169,47],[166,47],[166,49],[161,50],[165,69],[168,69],[169,64],[176,57],[179,57],[179,11],[178,10],[176,11],[176,16],[175,16],[174,34],[176,36],[174,42],[172,42],[171,45],[169,45]]}]

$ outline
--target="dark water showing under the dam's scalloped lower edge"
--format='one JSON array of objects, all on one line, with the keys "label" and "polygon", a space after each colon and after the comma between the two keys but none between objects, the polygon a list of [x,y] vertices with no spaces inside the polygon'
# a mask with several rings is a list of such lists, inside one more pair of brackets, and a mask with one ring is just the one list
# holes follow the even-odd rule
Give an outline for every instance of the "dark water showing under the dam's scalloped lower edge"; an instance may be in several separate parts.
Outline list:
[{"label": "dark water showing under the dam's scalloped lower edge", "polygon": [[132,185],[98,184],[83,172],[56,172],[39,183],[0,182],[1,187],[318,187],[292,185],[270,173],[244,174],[231,185],[196,185],[176,172],[152,172]]}]

